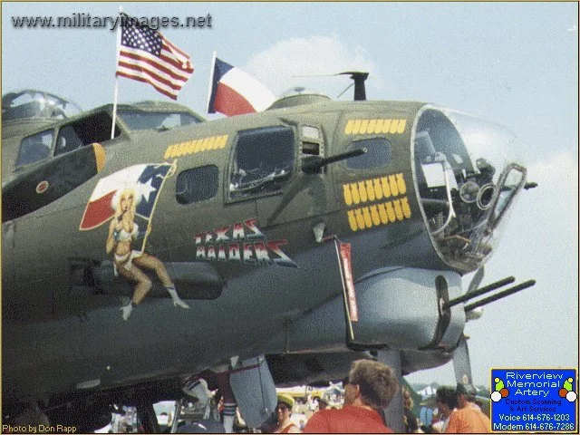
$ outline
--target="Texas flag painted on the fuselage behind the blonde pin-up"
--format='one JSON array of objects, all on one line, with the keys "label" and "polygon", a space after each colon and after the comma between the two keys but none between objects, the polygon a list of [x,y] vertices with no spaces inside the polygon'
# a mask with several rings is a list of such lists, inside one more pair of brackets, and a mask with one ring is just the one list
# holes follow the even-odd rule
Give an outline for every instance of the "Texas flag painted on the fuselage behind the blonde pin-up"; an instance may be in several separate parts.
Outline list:
[{"label": "Texas flag painted on the fuselage behind the blonde pin-up", "polygon": [[134,165],[100,179],[84,209],[79,229],[93,229],[111,219],[114,215],[111,201],[123,189],[134,190],[136,214],[150,219],[171,167],[170,163]]}]

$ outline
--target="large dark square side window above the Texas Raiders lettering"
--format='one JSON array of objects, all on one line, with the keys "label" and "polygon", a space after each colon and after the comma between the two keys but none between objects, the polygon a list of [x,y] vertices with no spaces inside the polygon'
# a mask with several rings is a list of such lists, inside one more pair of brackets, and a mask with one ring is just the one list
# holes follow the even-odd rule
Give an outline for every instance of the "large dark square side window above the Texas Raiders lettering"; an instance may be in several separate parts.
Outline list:
[{"label": "large dark square side window above the Texas Raiders lettering", "polygon": [[289,127],[240,131],[229,189],[232,198],[275,192],[294,169],[295,134]]}]

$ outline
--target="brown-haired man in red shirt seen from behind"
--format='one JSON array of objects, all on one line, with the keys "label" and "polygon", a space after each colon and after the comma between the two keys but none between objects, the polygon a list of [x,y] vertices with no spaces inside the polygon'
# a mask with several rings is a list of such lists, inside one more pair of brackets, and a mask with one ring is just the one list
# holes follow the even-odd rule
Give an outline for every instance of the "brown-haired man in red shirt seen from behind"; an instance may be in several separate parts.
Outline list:
[{"label": "brown-haired man in red shirt seen from behind", "polygon": [[392,433],[382,420],[399,382],[391,367],[382,362],[353,362],[344,385],[340,410],[318,411],[306,422],[304,433]]}]

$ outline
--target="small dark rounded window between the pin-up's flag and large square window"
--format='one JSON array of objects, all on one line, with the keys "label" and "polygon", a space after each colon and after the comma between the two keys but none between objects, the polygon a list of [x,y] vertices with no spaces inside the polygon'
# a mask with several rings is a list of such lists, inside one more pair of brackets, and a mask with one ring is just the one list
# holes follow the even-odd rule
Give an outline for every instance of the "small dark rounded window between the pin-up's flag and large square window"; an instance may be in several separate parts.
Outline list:
[{"label": "small dark rounded window between the pin-up's flag and large square window", "polygon": [[185,169],[179,172],[176,179],[175,198],[184,206],[197,204],[218,195],[218,188],[219,169],[216,165]]}]

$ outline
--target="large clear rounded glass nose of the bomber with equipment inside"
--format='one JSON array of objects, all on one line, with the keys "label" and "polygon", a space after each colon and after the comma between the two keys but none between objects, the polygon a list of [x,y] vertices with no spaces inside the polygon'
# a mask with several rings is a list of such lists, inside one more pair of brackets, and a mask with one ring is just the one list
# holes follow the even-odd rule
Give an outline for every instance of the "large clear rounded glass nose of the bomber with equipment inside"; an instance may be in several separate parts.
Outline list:
[{"label": "large clear rounded glass nose of the bomber with equipment inside", "polygon": [[449,266],[475,270],[498,243],[499,223],[526,182],[526,169],[503,158],[514,144],[513,133],[469,114],[432,106],[420,112],[417,192],[431,239]]}]

